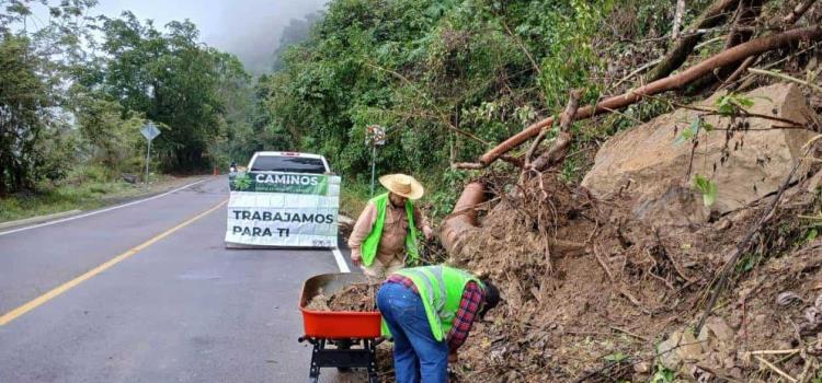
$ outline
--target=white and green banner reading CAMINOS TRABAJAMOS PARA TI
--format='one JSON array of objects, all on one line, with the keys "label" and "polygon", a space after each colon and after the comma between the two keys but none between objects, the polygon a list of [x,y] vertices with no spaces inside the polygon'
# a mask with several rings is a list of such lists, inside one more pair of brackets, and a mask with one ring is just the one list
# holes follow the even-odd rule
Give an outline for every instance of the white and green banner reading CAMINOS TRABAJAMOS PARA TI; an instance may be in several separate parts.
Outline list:
[{"label": "white and green banner reading CAMINOS TRABAJAMOS PARA TI", "polygon": [[238,173],[229,176],[226,242],[276,247],[335,247],[339,176]]}]

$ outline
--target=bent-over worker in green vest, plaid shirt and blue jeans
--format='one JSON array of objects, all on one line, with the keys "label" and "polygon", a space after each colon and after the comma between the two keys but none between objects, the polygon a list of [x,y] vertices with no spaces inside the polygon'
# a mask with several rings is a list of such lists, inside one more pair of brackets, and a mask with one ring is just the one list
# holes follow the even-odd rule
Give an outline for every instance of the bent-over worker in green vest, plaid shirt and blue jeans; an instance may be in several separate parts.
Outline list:
[{"label": "bent-over worker in green vest, plaid shirt and blue jeans", "polygon": [[393,337],[397,383],[444,383],[448,362],[477,318],[496,306],[500,292],[488,280],[447,266],[422,266],[388,276],[377,306]]}]

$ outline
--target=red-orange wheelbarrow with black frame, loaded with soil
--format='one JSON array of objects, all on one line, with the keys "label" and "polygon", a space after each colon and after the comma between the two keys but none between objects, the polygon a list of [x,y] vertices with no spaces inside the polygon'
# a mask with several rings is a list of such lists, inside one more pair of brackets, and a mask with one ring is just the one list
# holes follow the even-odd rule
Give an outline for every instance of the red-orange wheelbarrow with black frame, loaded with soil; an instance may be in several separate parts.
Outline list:
[{"label": "red-orange wheelbarrow with black frame, loaded with soil", "polygon": [[[302,312],[305,335],[299,341],[313,346],[309,382],[316,383],[321,368],[349,371],[364,368],[368,383],[378,383],[377,344],[381,341],[379,311],[313,311],[306,306],[313,297],[322,292],[331,295],[351,283],[367,282],[359,274],[322,274],[309,278],[302,285],[299,310]],[[333,346],[333,348],[328,348]]]}]

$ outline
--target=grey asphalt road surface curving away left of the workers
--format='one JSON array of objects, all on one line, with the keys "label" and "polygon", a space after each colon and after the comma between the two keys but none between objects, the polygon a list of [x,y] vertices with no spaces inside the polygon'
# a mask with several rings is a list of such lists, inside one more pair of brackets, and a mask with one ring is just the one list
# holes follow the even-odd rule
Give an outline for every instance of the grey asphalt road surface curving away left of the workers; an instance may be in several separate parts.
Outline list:
[{"label": "grey asphalt road surface curving away left of the workers", "polygon": [[0,325],[0,382],[307,381],[296,301],[338,265],[330,251],[226,249],[226,186],[0,232],[0,315],[41,303]]}]

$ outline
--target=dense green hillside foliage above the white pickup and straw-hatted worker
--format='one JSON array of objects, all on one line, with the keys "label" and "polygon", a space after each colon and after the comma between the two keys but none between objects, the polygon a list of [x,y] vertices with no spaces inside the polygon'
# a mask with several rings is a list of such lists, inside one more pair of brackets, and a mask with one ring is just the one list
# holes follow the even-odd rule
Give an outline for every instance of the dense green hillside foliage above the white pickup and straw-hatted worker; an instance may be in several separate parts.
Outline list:
[{"label": "dense green hillside foliage above the white pickup and straw-hatted worker", "polygon": [[[444,213],[461,186],[442,170],[564,106],[600,65],[592,40],[612,1],[336,0],[310,38],[260,79],[273,149],[318,152],[354,183],[370,173],[364,130],[388,128],[377,172],[431,174]],[[471,136],[469,138],[468,136]],[[457,181],[458,179],[458,181]],[[437,190],[443,190],[442,195]]]}]

